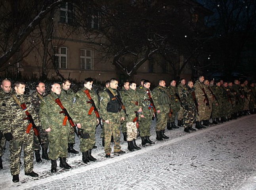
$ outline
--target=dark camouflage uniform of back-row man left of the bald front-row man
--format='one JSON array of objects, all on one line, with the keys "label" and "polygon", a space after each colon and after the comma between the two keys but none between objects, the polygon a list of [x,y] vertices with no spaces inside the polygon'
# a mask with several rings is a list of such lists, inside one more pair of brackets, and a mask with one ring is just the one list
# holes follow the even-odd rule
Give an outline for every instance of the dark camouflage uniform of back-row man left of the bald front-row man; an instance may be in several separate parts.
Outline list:
[{"label": "dark camouflage uniform of back-row man left of the bald front-row man", "polygon": [[[32,97],[32,104],[34,105],[34,108],[36,110],[36,114],[39,115],[39,110],[40,110],[40,103],[42,101],[42,98],[46,96],[46,93],[43,93],[42,95],[40,95],[37,91],[35,91],[34,93],[31,94]],[[42,125],[41,122],[39,120],[39,125],[37,126],[40,131],[40,137],[41,137],[41,146],[43,149],[47,150],[48,146],[49,146],[49,142],[48,142],[48,134],[46,131],[44,131],[42,129]],[[34,146],[33,146],[34,150],[40,150],[40,142],[38,141],[38,138],[36,137],[36,135],[34,135]]]}]

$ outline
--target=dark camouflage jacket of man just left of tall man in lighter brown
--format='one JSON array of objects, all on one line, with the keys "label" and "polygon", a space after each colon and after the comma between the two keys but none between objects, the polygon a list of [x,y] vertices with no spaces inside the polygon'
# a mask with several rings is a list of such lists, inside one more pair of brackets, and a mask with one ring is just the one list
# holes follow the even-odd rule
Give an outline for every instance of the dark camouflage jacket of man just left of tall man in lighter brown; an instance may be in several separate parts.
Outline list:
[{"label": "dark camouflage jacket of man just left of tall man in lighter brown", "polygon": [[185,86],[181,93],[181,104],[186,110],[195,110],[195,101],[192,95],[193,91],[194,89],[191,89],[189,86]]}]

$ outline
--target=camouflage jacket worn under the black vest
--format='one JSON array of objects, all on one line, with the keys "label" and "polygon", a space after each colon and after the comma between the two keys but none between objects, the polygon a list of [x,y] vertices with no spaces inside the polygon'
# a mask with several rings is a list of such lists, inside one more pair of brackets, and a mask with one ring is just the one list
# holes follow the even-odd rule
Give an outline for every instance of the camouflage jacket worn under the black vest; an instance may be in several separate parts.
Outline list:
[{"label": "camouflage jacket worn under the black vest", "polygon": [[[111,87],[109,87],[109,88],[115,93],[115,95],[117,95],[117,89],[113,89]],[[121,96],[121,99],[122,99],[122,96]],[[109,101],[110,101],[110,97],[109,97],[109,94],[107,93],[107,89],[106,89],[102,93],[100,93],[99,108],[101,110],[102,119],[110,120],[111,118],[113,118],[113,116],[125,117],[123,110],[120,110],[120,112],[118,112],[118,113],[107,112],[107,104],[109,103]]]}]

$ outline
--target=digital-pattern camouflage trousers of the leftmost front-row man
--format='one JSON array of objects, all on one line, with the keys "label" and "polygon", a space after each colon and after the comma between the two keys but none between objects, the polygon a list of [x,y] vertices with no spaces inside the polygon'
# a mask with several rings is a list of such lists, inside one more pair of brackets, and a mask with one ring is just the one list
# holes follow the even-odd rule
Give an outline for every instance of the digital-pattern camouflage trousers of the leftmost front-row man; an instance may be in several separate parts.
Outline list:
[{"label": "digital-pattern camouflage trousers of the leftmost front-row man", "polygon": [[27,134],[27,137],[23,141],[10,141],[10,169],[11,175],[18,175],[20,172],[19,161],[21,158],[21,148],[24,151],[24,170],[25,173],[33,171],[33,135]]}]

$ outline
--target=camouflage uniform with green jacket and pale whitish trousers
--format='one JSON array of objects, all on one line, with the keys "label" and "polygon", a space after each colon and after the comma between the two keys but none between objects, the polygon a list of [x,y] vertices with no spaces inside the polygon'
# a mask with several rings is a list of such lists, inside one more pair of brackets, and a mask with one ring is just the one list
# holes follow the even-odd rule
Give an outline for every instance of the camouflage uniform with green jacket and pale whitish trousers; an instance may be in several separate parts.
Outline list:
[{"label": "camouflage uniform with green jacket and pale whitish trousers", "polygon": [[[133,122],[136,117],[135,111],[139,110],[139,95],[133,89],[128,89],[122,94],[124,105],[127,111],[128,117],[126,117],[127,128],[127,141],[132,141],[137,137],[136,122]],[[137,103],[136,103],[137,102]]]}]

